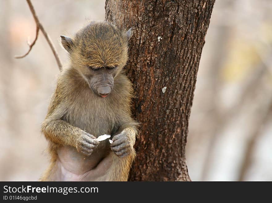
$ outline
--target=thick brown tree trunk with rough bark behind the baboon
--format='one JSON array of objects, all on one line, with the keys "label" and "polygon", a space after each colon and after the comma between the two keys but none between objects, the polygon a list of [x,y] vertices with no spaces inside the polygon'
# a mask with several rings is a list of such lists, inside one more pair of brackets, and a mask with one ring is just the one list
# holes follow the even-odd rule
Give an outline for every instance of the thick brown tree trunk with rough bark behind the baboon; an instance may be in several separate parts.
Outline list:
[{"label": "thick brown tree trunk with rough bark behind the baboon", "polygon": [[190,180],[188,121],[214,2],[106,0],[106,20],[134,31],[127,73],[141,127],[129,180]]}]

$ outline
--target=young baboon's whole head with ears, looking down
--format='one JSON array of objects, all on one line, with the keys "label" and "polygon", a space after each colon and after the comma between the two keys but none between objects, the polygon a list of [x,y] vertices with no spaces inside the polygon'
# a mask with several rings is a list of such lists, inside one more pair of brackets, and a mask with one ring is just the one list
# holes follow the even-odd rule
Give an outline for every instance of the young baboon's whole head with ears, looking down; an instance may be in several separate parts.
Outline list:
[{"label": "young baboon's whole head with ears, looking down", "polygon": [[114,78],[127,61],[127,43],[132,35],[108,22],[91,22],[76,33],[74,39],[61,36],[70,54],[72,66],[79,71],[96,95],[107,97]]}]

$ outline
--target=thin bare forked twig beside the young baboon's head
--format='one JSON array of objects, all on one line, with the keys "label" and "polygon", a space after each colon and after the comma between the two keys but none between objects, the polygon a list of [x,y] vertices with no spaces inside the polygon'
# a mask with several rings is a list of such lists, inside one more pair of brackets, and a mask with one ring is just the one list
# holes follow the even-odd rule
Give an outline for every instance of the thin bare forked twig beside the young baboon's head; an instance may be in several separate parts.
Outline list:
[{"label": "thin bare forked twig beside the young baboon's head", "polygon": [[38,16],[36,15],[36,12],[35,12],[35,9],[31,3],[31,0],[26,0],[28,2],[28,6],[29,6],[29,9],[33,15],[33,18],[35,19],[35,22],[36,22],[36,37],[35,37],[35,40],[32,42],[32,44],[28,44],[29,45],[29,50],[26,54],[24,54],[23,56],[15,56],[15,58],[23,58],[25,57],[26,55],[28,55],[28,53],[31,51],[33,45],[35,44],[37,38],[38,38],[38,32],[39,30],[41,30],[41,32],[44,34],[45,36],[45,39],[46,41],[48,42],[55,58],[56,58],[56,61],[57,61],[57,65],[58,65],[58,68],[59,70],[62,70],[62,62],[57,54],[57,51],[52,43],[52,40],[50,39],[49,35],[47,34],[47,32],[45,32],[45,29],[44,27],[42,26],[42,24],[40,23],[39,19],[38,19]]}]

